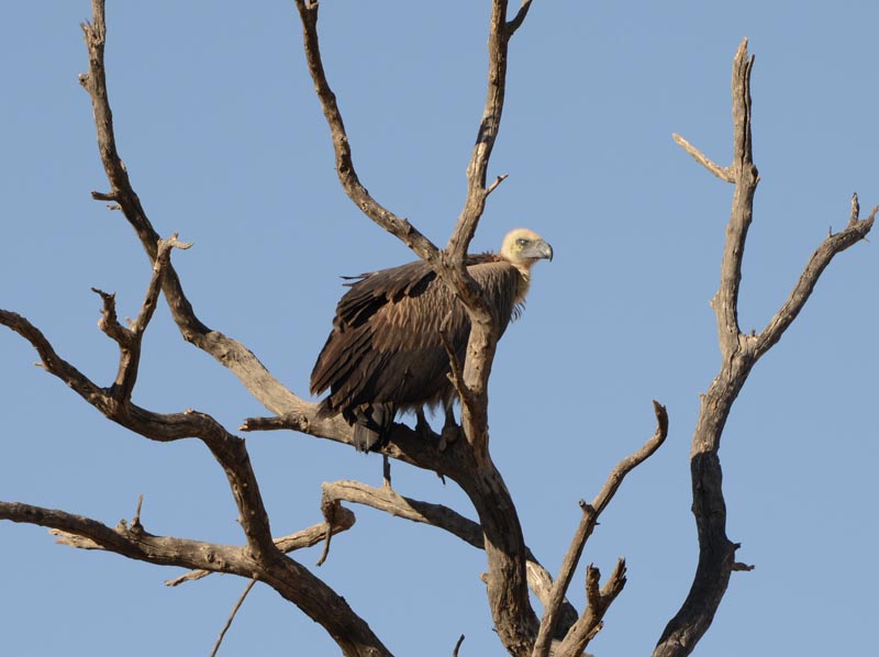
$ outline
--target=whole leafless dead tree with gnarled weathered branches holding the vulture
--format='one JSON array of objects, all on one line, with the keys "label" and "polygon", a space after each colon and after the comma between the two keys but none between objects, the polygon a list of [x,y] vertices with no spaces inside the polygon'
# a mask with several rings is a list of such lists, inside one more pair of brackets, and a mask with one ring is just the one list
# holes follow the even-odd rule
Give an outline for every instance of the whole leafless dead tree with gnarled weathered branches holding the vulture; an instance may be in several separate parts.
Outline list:
[{"label": "whole leafless dead tree with gnarled weathered branches holding the vulture", "polygon": [[[335,481],[323,489],[321,511],[324,523],[289,536],[275,537],[251,466],[244,441],[211,415],[192,409],[157,413],[132,402],[137,382],[141,345],[159,297],[170,309],[185,341],[213,356],[231,370],[244,388],[270,413],[251,417],[242,432],[287,430],[326,438],[340,445],[352,444],[352,430],[341,419],[320,419],[315,405],[297,397],[281,385],[240,342],[207,326],[196,314],[183,292],[180,277],[171,264],[174,248],[189,245],[174,235],[162,240],[147,218],[122,164],[113,132],[104,71],[107,24],[103,0],[92,0],[92,21],[82,26],[88,48],[88,73],[80,78],[91,98],[100,158],[109,190],[92,192],[96,200],[121,210],[144,247],[152,276],[137,316],[124,325],[116,316],[113,294],[94,290],[101,299],[101,331],[119,347],[119,366],[113,381],[100,386],[56,352],[49,339],[23,316],[0,311],[0,323],[21,335],[36,349],[43,368],[63,380],[84,401],[112,422],[148,439],[174,442],[200,439],[222,467],[234,497],[243,532],[243,545],[227,546],[181,537],[157,536],[141,521],[140,506],[130,522],[115,527],[97,520],[18,502],[0,502],[0,520],[49,527],[59,542],[86,549],[103,549],[132,559],[163,566],[187,568],[190,572],[173,583],[182,583],[212,572],[237,575],[263,582],[296,604],[319,623],[345,655],[390,655],[385,643],[367,621],[352,609],[311,570],[290,556],[294,550],[324,543],[323,561],[334,534],[349,530],[354,514],[343,505],[361,504],[445,530],[476,548],[485,550],[486,590],[494,628],[503,647],[516,657],[580,655],[601,630],[609,605],[625,584],[625,563],[621,558],[601,582],[598,568],[586,570],[587,605],[578,612],[566,593],[589,536],[613,499],[624,477],[663,444],[668,431],[665,409],[654,402],[657,426],[654,435],[635,454],[623,458],[610,472],[591,503],[580,502],[581,521],[565,555],[560,571],[550,577],[528,549],[512,500],[489,449],[487,383],[498,341],[496,319],[468,276],[464,257],[472,240],[489,194],[503,177],[489,181],[488,163],[498,136],[504,101],[508,47],[526,20],[531,0],[524,0],[513,15],[504,0],[492,1],[489,32],[487,98],[478,136],[467,167],[467,194],[464,208],[445,248],[438,248],[405,219],[380,204],[360,183],[354,166],[342,113],[323,69],[318,35],[319,5],[312,0],[296,0],[302,29],[304,53],[318,97],[330,126],[336,171],[352,201],[378,226],[390,232],[436,271],[467,309],[472,331],[466,365],[455,369],[455,385],[461,400],[461,430],[465,439],[446,448],[439,436],[425,439],[403,424],[394,425],[386,458],[399,460],[455,481],[467,494],[477,514],[471,520],[455,510],[407,498],[390,487],[375,488],[357,481]],[[725,503],[717,457],[720,437],[731,405],[748,372],[795,319],[811,294],[821,272],[834,255],[863,240],[876,214],[861,220],[857,198],[853,199],[848,225],[831,234],[810,259],[803,275],[778,313],[760,333],[744,334],[738,326],[738,283],[745,238],[752,221],[754,193],[758,182],[752,159],[749,76],[753,58],[746,43],[735,58],[733,70],[734,158],[728,167],[712,163],[680,137],[677,141],[715,176],[734,183],[734,201],[726,229],[726,246],[721,268],[721,285],[713,300],[723,365],[702,400],[693,436],[691,472],[693,512],[699,530],[699,565],[690,594],[659,639],[656,655],[686,655],[711,624],[734,570],[747,569],[735,559],[736,544],[726,536]],[[532,606],[530,591],[541,601],[543,613]],[[245,591],[246,594],[246,591]],[[221,636],[222,639],[222,636]],[[454,648],[457,654],[461,642]]]}]

